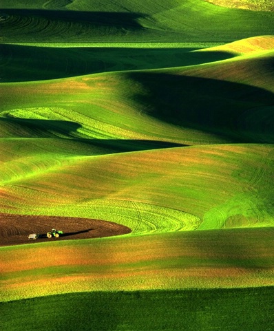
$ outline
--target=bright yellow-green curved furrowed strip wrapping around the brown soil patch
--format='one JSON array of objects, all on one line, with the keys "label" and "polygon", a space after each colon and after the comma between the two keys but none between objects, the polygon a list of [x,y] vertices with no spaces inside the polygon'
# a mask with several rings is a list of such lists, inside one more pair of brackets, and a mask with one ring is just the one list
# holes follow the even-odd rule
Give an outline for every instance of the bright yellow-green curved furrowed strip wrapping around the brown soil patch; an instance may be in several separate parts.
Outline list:
[{"label": "bright yellow-green curved furrowed strip wrapping around the brown soil patch", "polygon": [[[16,191],[17,187],[19,186],[13,188],[10,186],[10,191],[13,189]],[[20,186],[19,189],[23,189],[23,187]],[[28,194],[32,193],[28,192]],[[36,191],[35,194],[41,195],[41,192]],[[25,203],[23,202],[23,204]],[[105,220],[127,226],[131,229],[129,235],[191,231],[197,229],[201,222],[199,217],[190,213],[132,200],[92,199],[81,203],[58,203],[54,206],[41,202],[39,206],[38,204],[28,206],[28,209],[23,204],[21,207],[25,209],[24,211],[22,209],[25,215],[58,215]]]}]

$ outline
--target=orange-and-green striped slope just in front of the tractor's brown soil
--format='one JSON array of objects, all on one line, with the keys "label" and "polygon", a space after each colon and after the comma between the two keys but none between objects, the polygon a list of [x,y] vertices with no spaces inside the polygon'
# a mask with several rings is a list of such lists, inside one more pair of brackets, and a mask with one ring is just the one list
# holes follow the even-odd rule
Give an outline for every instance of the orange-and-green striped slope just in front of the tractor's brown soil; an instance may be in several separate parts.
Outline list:
[{"label": "orange-and-green striped slope just in front of the tractor's brown soil", "polygon": [[0,255],[1,301],[273,285],[273,227],[63,240],[1,247]]}]

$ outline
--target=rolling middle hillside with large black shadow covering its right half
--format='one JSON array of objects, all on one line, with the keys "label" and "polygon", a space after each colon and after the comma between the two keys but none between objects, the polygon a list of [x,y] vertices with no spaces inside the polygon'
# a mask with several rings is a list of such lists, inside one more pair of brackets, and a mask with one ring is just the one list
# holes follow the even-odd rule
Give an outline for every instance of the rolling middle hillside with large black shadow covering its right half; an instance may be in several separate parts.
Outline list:
[{"label": "rolling middle hillside with large black shadow covering its right half", "polygon": [[[220,54],[217,51],[215,56],[215,47],[213,51],[182,53],[182,64],[188,64],[187,57],[197,61],[205,56],[207,63],[200,65],[28,84],[2,83],[2,137],[20,136],[7,130],[7,125],[30,129],[30,120],[39,120],[39,127],[51,123],[51,136],[165,140],[185,145],[273,143],[269,125],[273,107],[273,51],[269,47],[273,39],[264,40],[268,41],[266,50],[258,47],[261,52],[231,55],[222,61],[215,61]],[[244,49],[246,41],[242,45]],[[230,47],[233,46],[226,49],[231,50]],[[131,52],[135,54],[134,49]],[[151,61],[154,59],[151,57]],[[171,56],[169,60],[172,61]],[[8,67],[5,76],[15,77],[13,66]],[[48,136],[48,128],[44,130]],[[27,131],[21,136],[31,137],[33,132]]]}]

